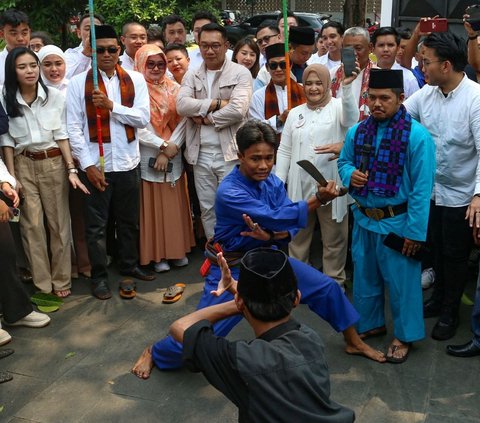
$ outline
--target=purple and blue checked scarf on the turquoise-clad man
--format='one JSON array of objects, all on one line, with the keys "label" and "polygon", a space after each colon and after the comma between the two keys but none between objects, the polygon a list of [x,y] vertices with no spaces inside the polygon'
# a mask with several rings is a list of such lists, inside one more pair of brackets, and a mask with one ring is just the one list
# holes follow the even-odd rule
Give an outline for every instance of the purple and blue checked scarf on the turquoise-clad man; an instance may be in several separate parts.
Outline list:
[{"label": "purple and blue checked scarf on the turquoise-clad man", "polygon": [[412,117],[407,113],[405,106],[401,105],[390,119],[377,151],[378,122],[370,116],[358,125],[354,138],[355,167],[357,169],[360,167],[364,144],[370,144],[372,151],[377,152],[370,155],[367,184],[361,189],[354,189],[355,194],[366,197],[370,191],[379,197],[393,197],[398,193],[411,128]]}]

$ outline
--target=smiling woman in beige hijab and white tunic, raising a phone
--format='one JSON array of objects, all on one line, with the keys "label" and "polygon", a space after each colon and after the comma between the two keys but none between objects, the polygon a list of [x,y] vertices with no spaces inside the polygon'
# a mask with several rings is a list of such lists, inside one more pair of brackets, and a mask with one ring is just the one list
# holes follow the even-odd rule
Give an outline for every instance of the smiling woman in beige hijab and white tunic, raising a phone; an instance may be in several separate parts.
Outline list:
[{"label": "smiling woman in beige hijab and white tunic, raising a phone", "polygon": [[[295,107],[288,115],[277,153],[277,176],[288,184],[292,201],[308,198],[316,191],[315,180],[297,162],[311,161],[326,179],[340,183],[338,156],[320,153],[326,144],[343,143],[348,128],[358,121],[358,106],[351,83],[357,73],[343,81],[342,99],[331,96],[330,73],[319,64],[308,66],[303,73],[306,104]],[[291,257],[304,262],[309,260],[310,243],[318,218],[323,242],[323,272],[343,287],[348,240],[348,198],[338,197],[311,212],[305,229],[298,232],[289,244]]]}]

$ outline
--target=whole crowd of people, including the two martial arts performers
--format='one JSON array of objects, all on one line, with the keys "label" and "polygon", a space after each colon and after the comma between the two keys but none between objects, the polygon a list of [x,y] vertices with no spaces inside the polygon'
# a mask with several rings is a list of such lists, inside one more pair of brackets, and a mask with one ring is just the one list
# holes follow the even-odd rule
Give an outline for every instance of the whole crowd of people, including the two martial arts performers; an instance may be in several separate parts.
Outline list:
[{"label": "whole crowd of people, including the two martial arts performers", "polygon": [[[161,29],[127,22],[120,36],[95,15],[95,52],[90,22],[80,17],[80,44],[63,52],[31,32],[25,13],[0,16],[5,324],[50,321],[33,311],[20,267],[38,292],[68,297],[83,276],[107,300],[112,257],[122,275],[154,280],[187,266],[205,237],[198,311],[132,371],[148,378],[154,366],[189,363],[238,405],[241,420],[294,411],[306,421],[354,419],[329,400],[321,341],[290,318],[299,302],[343,333],[347,353],[377,362],[405,362],[425,336],[424,318],[437,318],[433,339],[455,335],[470,250],[480,244],[480,49],[468,22],[465,42],[420,25],[370,34],[330,21],[316,34],[289,13],[288,60],[283,16],[230,46],[208,12],[190,27],[177,15]],[[355,54],[348,72],[345,50]],[[310,266],[317,222],[323,273]],[[386,290],[393,328],[383,353],[364,341],[387,333]],[[242,316],[256,342],[221,340]],[[472,328],[472,340],[448,354],[480,355],[480,283]],[[0,345],[10,340],[0,328]],[[263,345],[277,342],[274,351]],[[290,342],[295,366],[285,359]],[[298,363],[310,363],[312,348],[318,373],[308,381]],[[315,406],[294,407],[282,390],[265,401],[261,390],[287,374],[306,393],[315,387]]]}]

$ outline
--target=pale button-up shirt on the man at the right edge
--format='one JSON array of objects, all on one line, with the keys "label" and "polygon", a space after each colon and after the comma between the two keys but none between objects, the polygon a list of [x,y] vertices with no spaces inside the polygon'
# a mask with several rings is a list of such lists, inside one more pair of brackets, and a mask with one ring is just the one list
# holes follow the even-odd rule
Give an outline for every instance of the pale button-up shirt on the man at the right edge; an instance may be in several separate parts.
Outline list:
[{"label": "pale button-up shirt on the man at the right edge", "polygon": [[470,204],[480,193],[480,86],[464,75],[445,98],[439,87],[425,85],[405,107],[435,141],[435,204]]}]

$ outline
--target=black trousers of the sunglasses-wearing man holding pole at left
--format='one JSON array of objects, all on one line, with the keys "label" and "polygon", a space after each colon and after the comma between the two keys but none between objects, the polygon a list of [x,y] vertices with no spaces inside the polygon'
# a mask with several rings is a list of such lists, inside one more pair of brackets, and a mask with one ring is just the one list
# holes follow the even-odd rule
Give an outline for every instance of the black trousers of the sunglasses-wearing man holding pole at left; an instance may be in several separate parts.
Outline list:
[{"label": "black trousers of the sunglasses-wearing man holding pole at left", "polygon": [[138,264],[140,167],[127,172],[107,172],[105,191],[98,191],[85,172],[80,178],[90,191],[85,196],[85,229],[92,279],[107,279],[107,222],[115,213],[117,252],[120,272],[128,272]]}]

